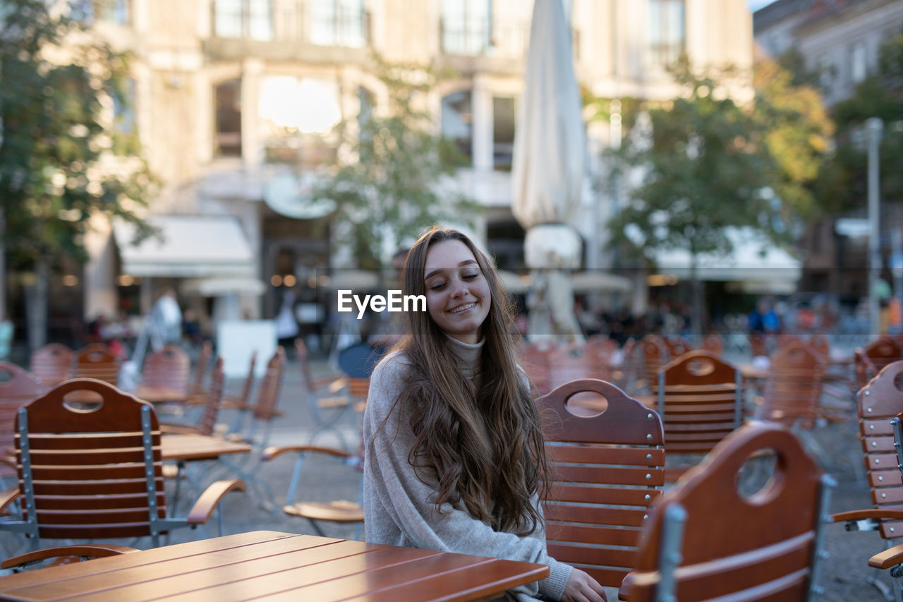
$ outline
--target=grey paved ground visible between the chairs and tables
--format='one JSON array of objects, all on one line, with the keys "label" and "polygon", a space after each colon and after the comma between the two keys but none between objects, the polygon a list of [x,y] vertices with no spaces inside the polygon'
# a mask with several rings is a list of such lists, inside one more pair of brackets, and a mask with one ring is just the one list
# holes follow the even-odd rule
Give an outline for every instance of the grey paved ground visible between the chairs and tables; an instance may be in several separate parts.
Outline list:
[{"label": "grey paved ground visible between the chairs and tables", "polygon": [[[315,364],[315,371],[326,371],[323,362]],[[228,390],[237,392],[241,386],[240,381],[228,383]],[[307,442],[311,434],[311,416],[306,407],[303,394],[301,374],[294,362],[289,362],[284,377],[284,387],[279,407],[284,409],[285,417],[275,426],[271,435],[271,443],[276,445],[288,445],[291,443]],[[232,416],[226,414],[221,417],[225,424],[231,423]],[[353,412],[342,420],[342,432],[349,445],[356,445],[359,433],[359,415]],[[852,469],[852,457],[847,449],[858,449],[855,425],[828,425],[817,429],[815,441],[823,451],[816,452],[825,466],[837,479],[838,486],[833,493],[831,512],[852,510],[856,508],[870,507],[868,488],[861,484]],[[336,445],[337,437],[330,435],[322,437],[319,443]],[[353,443],[352,443],[353,442]],[[824,451],[827,450],[827,451]],[[280,456],[272,462],[259,466],[246,466],[260,480],[264,481],[273,494],[278,504],[284,502],[284,495],[293,469],[293,459],[288,456]],[[214,467],[206,478],[217,475],[226,475],[221,467]],[[359,473],[351,466],[344,466],[332,461],[330,458],[311,459],[304,466],[303,498],[308,500],[331,499],[358,499]],[[167,483],[167,491],[172,488]],[[182,507],[181,512],[185,512]],[[226,533],[255,530],[289,531],[298,533],[313,533],[310,524],[293,519],[278,509],[268,512],[256,503],[253,494],[231,494],[223,503],[223,511],[226,517]],[[327,525],[327,534],[340,538],[352,538],[355,536],[353,528],[342,528]],[[192,539],[213,537],[217,535],[216,524],[211,522],[209,526],[200,527],[197,531],[182,529],[173,531],[172,542],[189,541]],[[18,546],[12,535],[0,532],[0,545],[5,552],[11,553]],[[149,544],[148,544],[149,545]],[[139,544],[139,547],[144,545]],[[829,557],[824,563],[822,583],[824,596],[822,600],[831,602],[847,602],[849,600],[880,600],[877,589],[867,583],[870,570],[866,561],[871,554],[883,550],[884,545],[875,532],[846,532],[842,525],[828,525],[826,529],[825,548]],[[886,572],[886,571],[885,571]],[[889,577],[881,575],[885,581]],[[610,590],[609,599],[617,599],[614,590]]]}]

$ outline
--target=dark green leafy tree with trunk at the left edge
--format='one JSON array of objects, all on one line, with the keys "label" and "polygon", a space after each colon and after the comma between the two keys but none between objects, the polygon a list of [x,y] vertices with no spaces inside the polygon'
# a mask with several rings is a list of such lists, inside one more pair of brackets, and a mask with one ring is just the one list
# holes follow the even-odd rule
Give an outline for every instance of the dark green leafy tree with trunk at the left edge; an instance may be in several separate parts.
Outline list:
[{"label": "dark green leafy tree with trunk at the left edge", "polygon": [[84,236],[98,217],[148,234],[139,214],[154,187],[134,133],[115,127],[127,57],[92,33],[96,3],[49,5],[9,0],[0,21],[0,231],[11,263],[36,276],[26,293],[32,346],[46,338],[51,269],[87,259]]}]

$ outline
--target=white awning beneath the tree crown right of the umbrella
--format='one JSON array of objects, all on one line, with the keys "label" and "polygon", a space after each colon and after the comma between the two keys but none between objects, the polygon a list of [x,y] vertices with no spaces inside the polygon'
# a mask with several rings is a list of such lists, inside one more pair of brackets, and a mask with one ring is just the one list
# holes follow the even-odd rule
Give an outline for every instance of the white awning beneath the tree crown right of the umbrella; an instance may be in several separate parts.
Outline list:
[{"label": "white awning beneath the tree crown right of the umbrella", "polygon": [[[764,234],[750,228],[728,228],[733,252],[702,254],[696,258],[700,280],[723,282],[781,282],[796,284],[802,261],[778,248]],[[690,277],[690,253],[686,249],[660,251],[655,258],[658,273],[682,279]]]}]

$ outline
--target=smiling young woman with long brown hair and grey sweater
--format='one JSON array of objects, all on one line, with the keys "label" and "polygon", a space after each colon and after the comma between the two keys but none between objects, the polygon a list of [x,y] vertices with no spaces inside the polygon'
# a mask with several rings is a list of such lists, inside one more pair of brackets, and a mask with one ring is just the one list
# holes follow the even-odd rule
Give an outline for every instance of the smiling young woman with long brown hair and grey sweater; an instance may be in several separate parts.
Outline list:
[{"label": "smiling young woman with long brown hair and grey sweater", "polygon": [[427,311],[406,315],[370,380],[367,541],[549,565],[508,599],[605,600],[545,550],[543,434],[495,268],[461,232],[433,228],[408,253],[404,289]]}]

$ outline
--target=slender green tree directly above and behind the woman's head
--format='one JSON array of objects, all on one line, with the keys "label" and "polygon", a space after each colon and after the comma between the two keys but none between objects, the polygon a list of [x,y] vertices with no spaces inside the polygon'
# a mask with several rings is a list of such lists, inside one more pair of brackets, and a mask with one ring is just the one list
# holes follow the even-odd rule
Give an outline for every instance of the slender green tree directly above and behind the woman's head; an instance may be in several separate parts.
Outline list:
[{"label": "slender green tree directly above and behind the woman's head", "polygon": [[382,267],[390,245],[438,221],[470,222],[479,205],[447,185],[461,153],[436,131],[427,98],[444,77],[418,65],[374,57],[388,106],[339,126],[340,152],[312,196],[336,203],[337,239],[359,268]]}]

